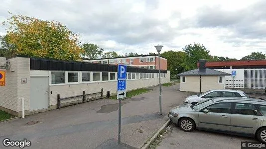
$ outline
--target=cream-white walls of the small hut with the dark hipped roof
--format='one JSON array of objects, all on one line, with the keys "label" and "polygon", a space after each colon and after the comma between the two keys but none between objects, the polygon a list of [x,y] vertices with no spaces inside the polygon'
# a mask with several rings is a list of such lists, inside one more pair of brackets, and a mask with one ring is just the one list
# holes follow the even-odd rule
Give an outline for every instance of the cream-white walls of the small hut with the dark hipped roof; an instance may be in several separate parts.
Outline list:
[{"label": "cream-white walls of the small hut with the dark hipped roof", "polygon": [[[182,82],[180,77],[180,90],[200,92],[200,76],[186,76],[186,81]],[[206,92],[212,89],[225,89],[225,76],[223,76],[223,83],[218,83],[218,76],[205,75],[201,76],[201,91]]]}]

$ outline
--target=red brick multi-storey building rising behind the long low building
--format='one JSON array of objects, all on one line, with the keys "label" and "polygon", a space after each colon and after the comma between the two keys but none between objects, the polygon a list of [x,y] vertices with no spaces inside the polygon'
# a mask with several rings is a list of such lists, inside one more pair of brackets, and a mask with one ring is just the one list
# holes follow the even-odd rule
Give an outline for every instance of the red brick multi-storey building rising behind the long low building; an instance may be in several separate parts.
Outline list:
[{"label": "red brick multi-storey building rising behind the long low building", "polygon": [[[159,69],[159,57],[157,55],[140,55],[140,56],[129,56],[129,57],[118,57],[118,58],[108,58],[108,59],[94,59],[87,60],[85,62],[100,63],[100,64],[123,64],[139,68],[147,69]],[[160,69],[167,70],[167,60],[160,57]]]}]

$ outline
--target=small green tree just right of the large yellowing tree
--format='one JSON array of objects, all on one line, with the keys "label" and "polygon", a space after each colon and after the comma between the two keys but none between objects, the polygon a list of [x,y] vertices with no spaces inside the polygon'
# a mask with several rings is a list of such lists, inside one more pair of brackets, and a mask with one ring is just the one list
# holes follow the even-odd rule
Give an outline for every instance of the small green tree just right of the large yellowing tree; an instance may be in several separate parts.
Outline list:
[{"label": "small green tree just right of the large yellowing tree", "polygon": [[92,43],[85,43],[83,44],[84,53],[82,56],[88,58],[88,59],[97,59],[99,56],[103,55],[103,48],[98,47],[96,44]]}]

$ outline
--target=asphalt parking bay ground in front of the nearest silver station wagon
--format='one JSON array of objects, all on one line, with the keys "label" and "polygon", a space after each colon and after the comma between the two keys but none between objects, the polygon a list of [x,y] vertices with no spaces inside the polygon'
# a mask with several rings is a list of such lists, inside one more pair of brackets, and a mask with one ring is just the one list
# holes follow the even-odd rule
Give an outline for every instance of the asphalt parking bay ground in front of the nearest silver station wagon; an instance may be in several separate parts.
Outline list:
[{"label": "asphalt parking bay ground in front of the nearest silver station wagon", "polygon": [[174,124],[156,149],[241,149],[241,141],[253,138],[195,130],[184,132]]}]

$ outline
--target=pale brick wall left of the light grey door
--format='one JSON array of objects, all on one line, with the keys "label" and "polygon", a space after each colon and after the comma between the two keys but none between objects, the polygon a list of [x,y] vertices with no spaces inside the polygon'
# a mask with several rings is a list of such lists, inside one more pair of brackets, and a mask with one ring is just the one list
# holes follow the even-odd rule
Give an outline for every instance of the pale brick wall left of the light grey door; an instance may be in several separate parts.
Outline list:
[{"label": "pale brick wall left of the light grey door", "polygon": [[[0,86],[0,109],[17,114],[22,111],[23,97],[24,109],[27,112],[30,100],[29,58],[15,57],[7,62],[10,63],[10,70],[5,70],[5,86]],[[21,83],[21,78],[27,82]]]}]

